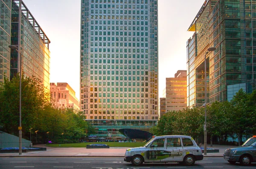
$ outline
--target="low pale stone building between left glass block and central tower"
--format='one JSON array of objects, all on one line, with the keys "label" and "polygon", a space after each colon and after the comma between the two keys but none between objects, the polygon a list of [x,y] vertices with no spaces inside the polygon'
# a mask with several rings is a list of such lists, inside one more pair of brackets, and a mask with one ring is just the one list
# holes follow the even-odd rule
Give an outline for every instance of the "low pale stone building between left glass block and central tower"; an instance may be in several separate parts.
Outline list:
[{"label": "low pale stone building between left glass block and central tower", "polygon": [[73,108],[74,112],[80,112],[79,100],[76,92],[68,83],[50,83],[51,103],[56,108]]}]

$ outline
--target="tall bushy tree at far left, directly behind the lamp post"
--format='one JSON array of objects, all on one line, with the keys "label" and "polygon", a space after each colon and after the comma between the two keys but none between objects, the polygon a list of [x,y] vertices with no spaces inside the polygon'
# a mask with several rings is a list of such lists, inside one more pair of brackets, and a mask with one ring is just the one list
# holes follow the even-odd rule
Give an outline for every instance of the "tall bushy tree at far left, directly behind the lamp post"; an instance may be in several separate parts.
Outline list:
[{"label": "tall bushy tree at far left, directly behind the lamp post", "polygon": [[[36,123],[37,113],[44,104],[47,104],[49,94],[38,78],[24,78],[22,75],[21,80],[21,123],[22,130],[28,132],[29,128]],[[18,135],[20,119],[19,84],[19,74],[11,81],[4,79],[4,83],[0,83],[0,123],[3,124],[4,131],[15,135]]]}]

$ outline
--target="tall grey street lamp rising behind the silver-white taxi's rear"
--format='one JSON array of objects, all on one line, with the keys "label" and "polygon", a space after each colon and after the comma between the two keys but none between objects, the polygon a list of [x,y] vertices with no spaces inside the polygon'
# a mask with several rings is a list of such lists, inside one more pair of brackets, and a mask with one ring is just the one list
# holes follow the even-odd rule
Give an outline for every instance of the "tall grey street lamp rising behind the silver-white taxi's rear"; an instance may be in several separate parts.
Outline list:
[{"label": "tall grey street lamp rising behind the silver-white taxi's rear", "polygon": [[206,55],[209,53],[209,52],[212,52],[212,51],[215,51],[216,48],[215,47],[212,47],[212,48],[209,48],[207,49],[208,51],[204,54],[204,155],[207,155],[207,129],[206,129],[206,117],[207,117],[207,110],[206,110],[206,104],[207,104],[207,95],[206,95],[206,92],[207,92],[207,89],[206,89],[206,83],[207,83],[207,79],[206,79]]}]

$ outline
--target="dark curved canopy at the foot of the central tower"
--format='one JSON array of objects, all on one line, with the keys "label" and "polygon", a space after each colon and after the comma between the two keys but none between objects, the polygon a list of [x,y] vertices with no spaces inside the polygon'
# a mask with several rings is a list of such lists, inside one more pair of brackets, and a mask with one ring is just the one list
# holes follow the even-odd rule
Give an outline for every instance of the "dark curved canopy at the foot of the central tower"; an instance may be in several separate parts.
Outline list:
[{"label": "dark curved canopy at the foot of the central tower", "polygon": [[150,140],[153,136],[153,134],[150,132],[146,132],[138,129],[119,129],[118,131],[129,139],[137,138],[137,139]]}]

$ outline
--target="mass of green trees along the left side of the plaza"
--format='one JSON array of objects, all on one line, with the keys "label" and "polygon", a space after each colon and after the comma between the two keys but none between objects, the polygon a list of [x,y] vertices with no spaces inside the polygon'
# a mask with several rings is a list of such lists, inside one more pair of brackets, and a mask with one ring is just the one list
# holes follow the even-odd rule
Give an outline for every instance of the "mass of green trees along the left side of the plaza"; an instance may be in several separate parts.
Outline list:
[{"label": "mass of green trees along the left side of the plaza", "polygon": [[[19,76],[0,83],[0,124],[3,131],[18,135],[19,126]],[[82,112],[73,109],[55,109],[49,103],[49,91],[35,77],[22,77],[21,120],[23,135],[30,128],[38,133],[49,132],[51,140],[58,140],[61,133],[70,139],[94,134],[93,126],[84,120]],[[35,131],[34,130],[34,131]]]}]

